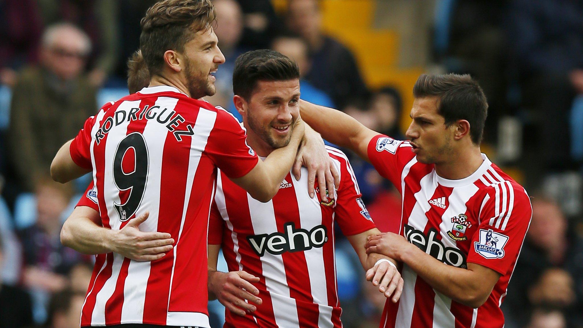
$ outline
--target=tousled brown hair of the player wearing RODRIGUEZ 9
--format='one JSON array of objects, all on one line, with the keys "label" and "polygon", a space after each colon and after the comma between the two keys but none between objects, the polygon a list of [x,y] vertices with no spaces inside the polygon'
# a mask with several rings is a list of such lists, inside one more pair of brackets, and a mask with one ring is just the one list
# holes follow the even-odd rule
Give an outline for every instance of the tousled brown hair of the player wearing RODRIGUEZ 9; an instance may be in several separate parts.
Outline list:
[{"label": "tousled brown hair of the player wearing RODRIGUEZ 9", "polygon": [[184,51],[196,32],[215,22],[215,7],[210,0],[164,0],[146,11],[142,18],[140,50],[150,75],[160,73],[167,50]]}]

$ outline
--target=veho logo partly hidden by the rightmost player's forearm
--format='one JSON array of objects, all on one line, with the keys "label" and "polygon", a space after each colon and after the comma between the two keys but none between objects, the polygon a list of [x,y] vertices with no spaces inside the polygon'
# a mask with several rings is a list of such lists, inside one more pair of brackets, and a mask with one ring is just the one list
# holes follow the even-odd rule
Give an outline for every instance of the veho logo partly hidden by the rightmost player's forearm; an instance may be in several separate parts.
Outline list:
[{"label": "veho logo partly hidden by the rightmost player's forearm", "polygon": [[438,233],[435,228],[430,228],[426,236],[423,231],[417,230],[408,224],[405,225],[405,238],[410,243],[445,264],[467,268],[466,254],[463,254],[461,250],[455,247],[445,247],[441,240],[436,238]]}]

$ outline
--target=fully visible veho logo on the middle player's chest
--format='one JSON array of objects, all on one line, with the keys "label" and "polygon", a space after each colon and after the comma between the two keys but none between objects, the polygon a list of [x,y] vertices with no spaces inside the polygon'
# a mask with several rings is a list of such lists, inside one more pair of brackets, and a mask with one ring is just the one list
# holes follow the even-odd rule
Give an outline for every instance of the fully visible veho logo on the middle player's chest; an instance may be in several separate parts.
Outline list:
[{"label": "fully visible veho logo on the middle player's chest", "polygon": [[325,225],[317,225],[307,231],[301,228],[296,229],[293,222],[287,222],[283,225],[283,231],[285,233],[273,232],[269,235],[262,233],[261,235],[247,236],[247,241],[251,245],[251,249],[259,256],[264,256],[265,252],[273,255],[300,252],[312,249],[312,247],[322,247],[328,241],[328,229]]}]

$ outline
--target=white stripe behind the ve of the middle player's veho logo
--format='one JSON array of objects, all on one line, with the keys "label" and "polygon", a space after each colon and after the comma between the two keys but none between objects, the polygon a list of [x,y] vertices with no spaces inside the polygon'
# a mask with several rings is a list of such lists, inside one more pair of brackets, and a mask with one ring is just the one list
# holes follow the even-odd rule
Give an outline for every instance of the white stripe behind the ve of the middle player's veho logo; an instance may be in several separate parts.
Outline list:
[{"label": "white stripe behind the ve of the middle player's veho logo", "polygon": [[[262,233],[269,235],[278,231],[271,200],[267,203],[261,203],[247,193],[247,201],[255,235]],[[280,277],[286,276],[283,257],[266,252],[261,257],[261,264],[265,277],[265,287],[271,295],[275,323],[280,327],[299,328],[300,321],[297,316],[296,300],[290,298],[290,289],[286,282],[280,281]]]}]

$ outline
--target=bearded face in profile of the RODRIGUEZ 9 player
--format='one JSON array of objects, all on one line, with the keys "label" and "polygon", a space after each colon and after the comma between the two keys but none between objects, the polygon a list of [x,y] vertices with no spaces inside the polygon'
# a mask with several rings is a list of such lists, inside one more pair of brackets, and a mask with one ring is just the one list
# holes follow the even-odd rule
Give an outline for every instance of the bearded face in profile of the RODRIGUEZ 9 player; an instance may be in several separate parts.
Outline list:
[{"label": "bearded face in profile of the RODRIGUEZ 9 player", "polygon": [[212,96],[216,92],[216,78],[213,74],[224,63],[224,55],[217,43],[217,36],[210,27],[197,32],[184,46],[185,64],[182,76],[190,96],[194,99]]}]

